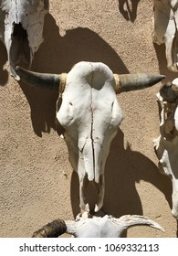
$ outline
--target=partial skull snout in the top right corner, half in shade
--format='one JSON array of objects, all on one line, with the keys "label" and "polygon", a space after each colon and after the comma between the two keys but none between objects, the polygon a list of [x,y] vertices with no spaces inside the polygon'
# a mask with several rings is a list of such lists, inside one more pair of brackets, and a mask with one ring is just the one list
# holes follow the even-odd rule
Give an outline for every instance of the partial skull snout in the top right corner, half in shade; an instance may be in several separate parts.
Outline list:
[{"label": "partial skull snout in the top right corner, half in shade", "polygon": [[178,71],[178,0],[153,0],[152,38],[165,44],[168,69]]}]

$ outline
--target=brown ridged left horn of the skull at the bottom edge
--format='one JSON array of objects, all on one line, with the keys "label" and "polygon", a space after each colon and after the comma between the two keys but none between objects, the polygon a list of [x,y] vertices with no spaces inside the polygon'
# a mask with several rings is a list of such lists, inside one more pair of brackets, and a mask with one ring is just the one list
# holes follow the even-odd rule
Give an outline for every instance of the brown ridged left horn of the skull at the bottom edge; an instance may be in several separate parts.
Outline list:
[{"label": "brown ridged left horn of the skull at the bottom edge", "polygon": [[63,219],[56,219],[34,232],[32,238],[58,238],[67,230]]}]

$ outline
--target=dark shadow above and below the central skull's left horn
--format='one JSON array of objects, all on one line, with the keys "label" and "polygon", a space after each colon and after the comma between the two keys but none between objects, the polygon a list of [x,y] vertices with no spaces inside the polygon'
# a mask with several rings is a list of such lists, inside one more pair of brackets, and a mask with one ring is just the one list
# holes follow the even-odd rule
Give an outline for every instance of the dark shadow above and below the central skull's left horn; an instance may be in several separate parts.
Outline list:
[{"label": "dark shadow above and below the central skull's left horn", "polygon": [[[64,37],[51,15],[46,16],[44,43],[35,56],[32,70],[48,73],[68,72],[81,60],[101,61],[113,72],[128,73],[117,53],[95,32],[88,28],[68,30]],[[55,129],[58,93],[32,88],[20,82],[31,108],[34,132],[38,136]]]}]

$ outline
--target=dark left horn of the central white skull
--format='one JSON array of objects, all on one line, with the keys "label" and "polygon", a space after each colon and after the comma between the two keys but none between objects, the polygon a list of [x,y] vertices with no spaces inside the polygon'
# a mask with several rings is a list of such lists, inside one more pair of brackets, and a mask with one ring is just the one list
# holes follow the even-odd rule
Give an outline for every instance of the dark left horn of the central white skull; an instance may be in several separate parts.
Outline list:
[{"label": "dark left horn of the central white skull", "polygon": [[21,80],[27,82],[28,84],[35,85],[42,89],[64,91],[67,74],[47,74],[47,73],[37,73],[23,69],[21,67],[16,67],[16,73]]}]

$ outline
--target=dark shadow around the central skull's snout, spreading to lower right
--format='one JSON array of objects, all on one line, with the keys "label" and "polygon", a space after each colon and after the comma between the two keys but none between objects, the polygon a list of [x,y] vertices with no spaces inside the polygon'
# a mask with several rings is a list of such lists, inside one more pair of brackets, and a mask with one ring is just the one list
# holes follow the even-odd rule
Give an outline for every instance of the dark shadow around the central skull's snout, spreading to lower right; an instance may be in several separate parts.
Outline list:
[{"label": "dark shadow around the central skull's snout, spreading to lower right", "polygon": [[[124,149],[124,134],[119,129],[110,146],[110,155],[105,168],[105,197],[102,210],[115,218],[125,214],[142,215],[141,199],[135,187],[141,180],[157,187],[172,208],[172,183],[167,176],[162,176],[152,161],[141,153]],[[96,199],[92,190],[90,200]],[[88,193],[89,194],[89,193]],[[74,217],[79,213],[79,179],[74,172],[70,188],[71,204]],[[159,213],[158,213],[159,214]]]}]

